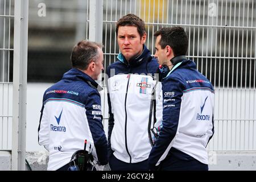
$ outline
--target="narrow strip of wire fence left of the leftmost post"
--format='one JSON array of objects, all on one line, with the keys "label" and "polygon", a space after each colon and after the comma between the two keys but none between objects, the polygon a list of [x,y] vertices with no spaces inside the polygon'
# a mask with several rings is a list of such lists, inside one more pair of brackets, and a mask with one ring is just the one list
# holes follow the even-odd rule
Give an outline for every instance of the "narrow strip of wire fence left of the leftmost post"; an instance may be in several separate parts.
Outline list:
[{"label": "narrow strip of wire fence left of the leftmost post", "polygon": [[11,149],[13,82],[10,64],[13,64],[14,1],[0,1],[0,148]]}]

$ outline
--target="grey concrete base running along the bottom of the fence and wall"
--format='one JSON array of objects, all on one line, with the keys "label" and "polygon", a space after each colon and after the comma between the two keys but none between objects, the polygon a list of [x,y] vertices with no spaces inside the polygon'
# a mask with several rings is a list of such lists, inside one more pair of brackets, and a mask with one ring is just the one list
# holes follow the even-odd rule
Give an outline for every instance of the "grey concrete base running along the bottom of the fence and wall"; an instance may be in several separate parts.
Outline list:
[{"label": "grey concrete base running along the bottom of the fence and wall", "polygon": [[[243,152],[208,152],[209,171],[256,171],[256,151]],[[26,152],[26,159],[32,171],[47,169],[48,152]],[[0,171],[11,169],[10,152],[0,151]],[[30,170],[26,165],[26,169]],[[106,165],[105,171],[109,171]]]}]

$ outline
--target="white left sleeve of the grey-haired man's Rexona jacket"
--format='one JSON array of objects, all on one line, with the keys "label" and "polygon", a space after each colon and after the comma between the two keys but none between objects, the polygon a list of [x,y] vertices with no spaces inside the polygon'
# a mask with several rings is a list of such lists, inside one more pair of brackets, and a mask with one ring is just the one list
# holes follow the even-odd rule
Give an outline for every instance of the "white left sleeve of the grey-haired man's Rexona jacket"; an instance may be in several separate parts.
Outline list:
[{"label": "white left sleeve of the grey-haired man's Rexona jacket", "polygon": [[40,146],[44,146],[49,151],[49,124],[47,111],[44,109],[44,104],[41,109],[40,121],[38,126],[38,143]]}]

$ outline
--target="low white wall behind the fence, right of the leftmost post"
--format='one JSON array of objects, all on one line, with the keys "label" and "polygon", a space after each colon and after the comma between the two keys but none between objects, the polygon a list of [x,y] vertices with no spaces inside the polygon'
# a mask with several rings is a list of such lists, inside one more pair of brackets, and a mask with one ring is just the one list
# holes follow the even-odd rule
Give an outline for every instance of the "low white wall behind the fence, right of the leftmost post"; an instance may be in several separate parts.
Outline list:
[{"label": "low white wall behind the fence, right of the leftmost post", "polygon": [[[43,93],[52,84],[27,84],[27,151],[44,150],[38,145],[38,125],[42,107]],[[106,93],[106,92],[105,92]],[[208,149],[210,151],[250,151],[256,150],[256,91],[254,89],[216,89],[215,95],[215,131]],[[105,107],[108,102],[102,98]],[[223,103],[223,104],[222,104]],[[108,118],[108,108],[104,118]],[[230,119],[230,120],[228,120]],[[237,119],[237,120],[236,120]],[[239,121],[239,120],[242,121]],[[108,120],[104,120],[104,129],[108,135]]]}]

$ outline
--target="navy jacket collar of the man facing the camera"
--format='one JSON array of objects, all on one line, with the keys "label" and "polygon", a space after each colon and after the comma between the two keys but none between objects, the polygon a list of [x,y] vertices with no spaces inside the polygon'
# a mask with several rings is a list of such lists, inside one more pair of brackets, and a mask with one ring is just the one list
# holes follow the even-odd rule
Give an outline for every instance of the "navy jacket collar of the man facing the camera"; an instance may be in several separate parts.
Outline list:
[{"label": "navy jacket collar of the man facing the camera", "polygon": [[147,49],[147,47],[143,44],[143,51],[141,53],[141,55],[139,55],[138,57],[135,57],[133,59],[131,59],[129,62],[125,59],[125,56],[122,55],[122,53],[119,53],[119,55],[117,56],[117,59],[119,61],[121,61],[123,64],[129,65],[131,67],[136,67],[137,65],[140,65],[143,63],[143,61],[145,59],[143,59],[144,57],[147,57],[148,53],[150,53],[150,51]]}]

